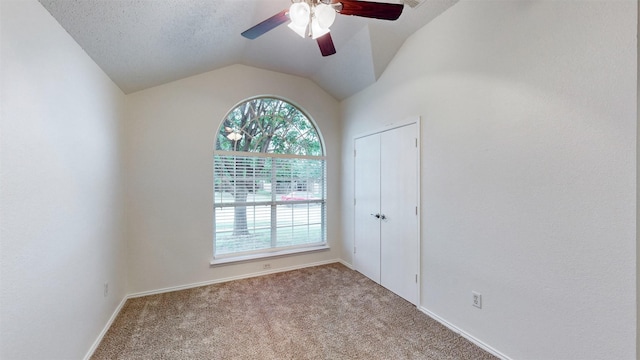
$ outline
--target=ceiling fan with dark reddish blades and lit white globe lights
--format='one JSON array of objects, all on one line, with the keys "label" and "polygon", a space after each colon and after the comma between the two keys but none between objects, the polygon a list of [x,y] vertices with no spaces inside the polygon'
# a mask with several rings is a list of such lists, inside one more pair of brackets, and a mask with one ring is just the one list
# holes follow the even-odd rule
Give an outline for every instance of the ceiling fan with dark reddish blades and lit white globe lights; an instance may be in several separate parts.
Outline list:
[{"label": "ceiling fan with dark reddish blades and lit white globe lights", "polygon": [[291,7],[280,11],[263,22],[242,32],[247,39],[273,30],[291,20],[289,28],[298,35],[311,37],[318,42],[322,56],[336,53],[329,27],[336,13],[373,19],[396,20],[402,14],[403,4],[388,4],[359,0],[291,0]]}]

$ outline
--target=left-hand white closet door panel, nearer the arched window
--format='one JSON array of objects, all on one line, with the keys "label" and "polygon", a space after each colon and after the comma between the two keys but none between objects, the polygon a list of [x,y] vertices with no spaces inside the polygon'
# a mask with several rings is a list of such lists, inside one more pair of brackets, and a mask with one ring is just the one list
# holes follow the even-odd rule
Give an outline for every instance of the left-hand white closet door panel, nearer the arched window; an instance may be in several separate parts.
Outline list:
[{"label": "left-hand white closet door panel, nearer the arched window", "polygon": [[355,141],[354,266],[380,283],[380,135]]}]

